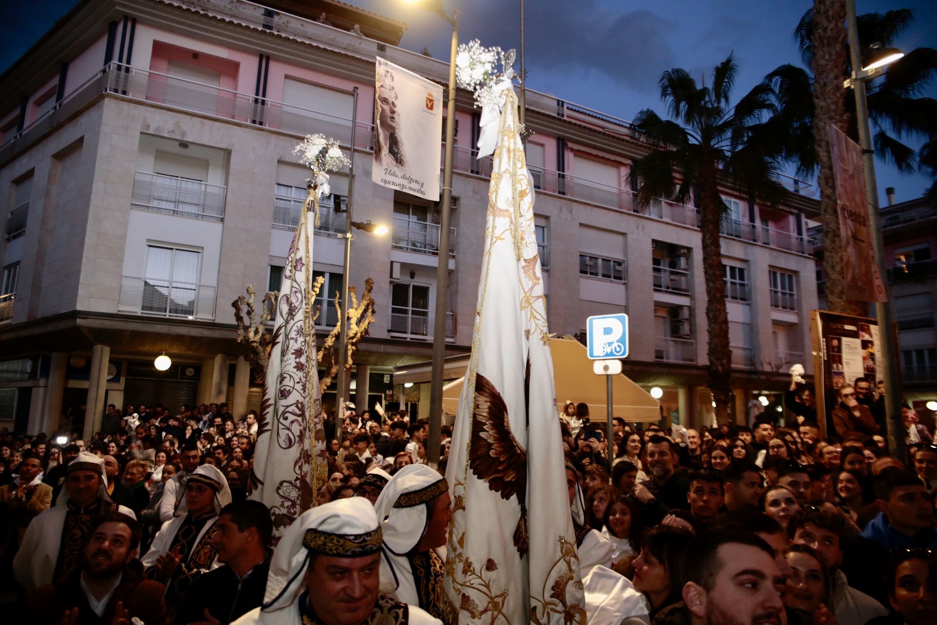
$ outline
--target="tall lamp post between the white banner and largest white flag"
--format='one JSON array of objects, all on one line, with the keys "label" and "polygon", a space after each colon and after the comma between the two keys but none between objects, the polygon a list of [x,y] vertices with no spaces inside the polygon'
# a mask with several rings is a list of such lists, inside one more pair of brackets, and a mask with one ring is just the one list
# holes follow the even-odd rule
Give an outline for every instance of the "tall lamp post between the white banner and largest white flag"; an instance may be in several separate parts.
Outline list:
[{"label": "tall lamp post between the white banner and largest white flag", "polygon": [[433,322],[433,369],[429,385],[429,442],[426,460],[439,463],[439,439],[442,434],[442,377],[446,358],[446,310],[449,308],[449,212],[453,203],[453,143],[455,141],[455,55],[459,43],[459,9],[452,16],[442,7],[442,0],[404,0],[420,4],[453,26],[449,58],[449,98],[446,118],[446,158],[442,168],[442,205],[439,207],[439,263],[436,270],[436,318]]}]

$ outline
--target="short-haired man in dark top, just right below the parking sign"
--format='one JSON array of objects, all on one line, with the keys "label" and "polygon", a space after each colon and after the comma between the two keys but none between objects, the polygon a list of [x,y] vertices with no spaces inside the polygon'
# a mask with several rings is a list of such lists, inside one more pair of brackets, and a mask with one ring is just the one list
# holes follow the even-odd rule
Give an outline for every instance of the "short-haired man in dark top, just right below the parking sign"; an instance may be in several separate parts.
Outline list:
[{"label": "short-haired man in dark top, just right below the parking sign", "polygon": [[674,508],[689,510],[686,471],[675,469],[677,445],[661,435],[647,439],[647,470],[651,477],[634,485],[634,497],[641,504],[641,520],[649,528],[660,523]]}]

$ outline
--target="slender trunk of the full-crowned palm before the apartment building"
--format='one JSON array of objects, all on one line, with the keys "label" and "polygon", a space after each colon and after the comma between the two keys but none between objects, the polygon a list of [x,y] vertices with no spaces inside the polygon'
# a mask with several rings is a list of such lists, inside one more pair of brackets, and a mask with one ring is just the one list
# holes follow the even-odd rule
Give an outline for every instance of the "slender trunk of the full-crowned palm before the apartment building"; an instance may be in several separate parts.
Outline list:
[{"label": "slender trunk of the full-crowned palm before the apartment building", "polygon": [[716,421],[729,423],[732,397],[732,351],[729,349],[729,315],[725,305],[725,282],[722,279],[720,223],[722,200],[716,181],[719,169],[710,160],[704,165],[700,191],[700,233],[703,238],[703,277],[706,279],[706,332],[709,356],[709,390],[716,402]]}]

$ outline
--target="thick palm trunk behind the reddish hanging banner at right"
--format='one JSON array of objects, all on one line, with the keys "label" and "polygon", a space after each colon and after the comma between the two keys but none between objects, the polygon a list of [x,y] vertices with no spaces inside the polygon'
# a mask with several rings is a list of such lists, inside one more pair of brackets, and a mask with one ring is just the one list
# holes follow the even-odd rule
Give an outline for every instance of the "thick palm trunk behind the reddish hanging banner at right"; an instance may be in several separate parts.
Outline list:
[{"label": "thick palm trunk behind the reddish hanging banner at right", "polygon": [[842,272],[842,238],[836,201],[836,179],[829,149],[829,125],[843,132],[849,116],[843,100],[842,81],[846,67],[845,0],[814,0],[813,3],[813,142],[817,155],[817,184],[820,186],[820,220],[824,235],[826,307],[844,315],[866,316],[868,306],[846,299]]}]

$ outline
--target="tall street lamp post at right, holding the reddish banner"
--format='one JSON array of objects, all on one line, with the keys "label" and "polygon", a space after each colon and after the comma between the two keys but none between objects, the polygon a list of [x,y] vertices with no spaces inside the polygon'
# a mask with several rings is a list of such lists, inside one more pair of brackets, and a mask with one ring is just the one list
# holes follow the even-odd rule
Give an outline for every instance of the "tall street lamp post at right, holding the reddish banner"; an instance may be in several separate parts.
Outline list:
[{"label": "tall street lamp post at right, holding the reddish banner", "polygon": [[[859,29],[855,21],[855,0],[846,2],[846,20],[849,23],[849,52],[853,67],[852,76],[844,86],[852,87],[855,96],[855,120],[859,131],[859,145],[862,148],[862,173],[866,183],[866,201],[869,207],[869,228],[872,247],[875,251],[875,265],[882,284],[885,296],[888,295],[888,278],[885,271],[885,243],[882,234],[882,216],[879,213],[878,185],[875,181],[875,151],[872,149],[871,130],[869,126],[869,107],[866,102],[866,81],[878,76],[880,67],[897,61],[901,54],[889,51],[876,63],[869,67],[862,66],[862,53],[859,47]],[[893,332],[893,318],[891,305],[888,301],[875,303],[875,319],[878,320],[879,333],[882,336],[882,358],[879,359],[882,369],[882,379],[885,380],[885,425],[888,433],[888,447],[896,457],[903,458],[905,454],[904,425],[901,422],[901,400],[898,346]]]}]

